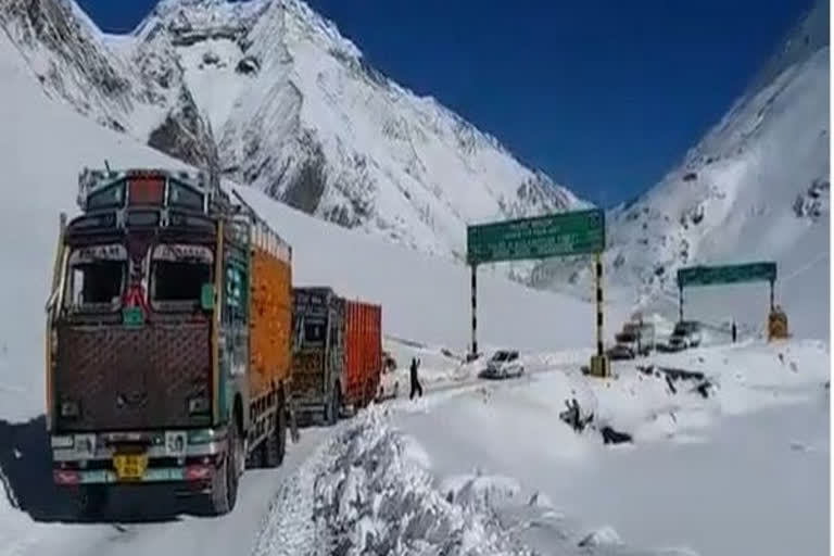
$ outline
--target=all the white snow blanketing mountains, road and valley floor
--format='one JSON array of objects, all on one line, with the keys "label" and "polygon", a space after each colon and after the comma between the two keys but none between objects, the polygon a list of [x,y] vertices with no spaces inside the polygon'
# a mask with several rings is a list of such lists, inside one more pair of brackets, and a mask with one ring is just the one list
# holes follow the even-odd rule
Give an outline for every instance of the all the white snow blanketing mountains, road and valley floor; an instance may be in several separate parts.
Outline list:
[{"label": "all the white snow blanketing mountains, road and valley floor", "polygon": [[[776,257],[778,301],[788,311],[796,339],[761,340],[767,286],[687,291],[687,315],[710,325],[737,318],[744,325],[742,341],[726,345],[725,336],[711,328],[702,349],[640,362],[655,364],[652,371],[618,363],[614,378],[596,380],[579,370],[595,341],[591,303],[525,289],[500,276],[506,268],[482,269],[481,348],[488,354],[497,348],[519,349],[528,370],[518,380],[485,382],[477,379],[482,362],[462,362],[470,341],[468,269],[408,247],[440,254],[459,249],[462,223],[494,216],[496,199],[510,195],[520,176],[530,177],[529,170],[433,100],[390,83],[368,84],[363,80],[367,76],[357,80],[353,62],[341,54],[323,56],[323,49],[333,45],[354,62],[359,53],[304,4],[288,2],[287,20],[261,12],[258,5],[229,9],[204,2],[208,11],[201,12],[192,2],[172,0],[136,35],[91,33],[89,43],[105,45],[112,56],[105,61],[115,67],[132,59],[136,41],[147,38],[154,25],[168,21],[166,10],[197,17],[201,25],[225,22],[229,13],[251,25],[252,36],[263,40],[250,48],[265,58],[261,74],[247,77],[253,83],[245,87],[229,71],[239,43],[219,37],[176,47],[177,60],[186,61],[182,79],[213,127],[227,119],[247,122],[243,114],[264,124],[241,124],[236,128],[241,136],[223,131],[227,147],[243,152],[249,132],[268,138],[264,151],[287,147],[288,153],[298,154],[298,144],[269,141],[313,129],[337,161],[331,162],[337,175],[353,172],[346,161],[355,153],[345,144],[361,144],[377,185],[387,185],[367,190],[378,214],[353,231],[278,204],[258,190],[229,187],[237,187],[292,244],[294,283],[330,285],[343,295],[382,304],[386,348],[396,357],[401,375],[407,376],[410,357],[424,361],[427,395],[374,407],[334,430],[304,430],[283,467],[244,477],[239,507],[222,519],[181,516],[116,527],[77,526],[36,521],[31,513],[17,509],[31,502],[28,489],[49,482],[34,477],[46,454],[29,447],[34,441],[21,439],[43,434],[37,420],[43,408],[42,308],[58,214],[75,212],[77,173],[104,160],[113,167],[182,163],[68,110],[53,89],[45,94],[31,67],[38,60],[48,67],[54,59],[39,48],[24,49],[22,55],[18,45],[0,34],[0,164],[7,184],[0,188],[0,237],[7,238],[0,242],[0,260],[14,269],[0,276],[0,306],[7,309],[0,319],[0,483],[12,486],[0,486],[10,493],[0,495],[0,555],[172,549],[212,555],[247,551],[250,543],[257,555],[336,546],[348,554],[370,546],[390,547],[394,554],[443,548],[450,554],[586,554],[590,547],[580,544],[593,544],[606,554],[718,556],[818,554],[827,548],[829,392],[823,383],[830,380],[830,348],[823,317],[830,294],[823,280],[829,277],[829,220],[827,212],[817,220],[792,213],[795,193],[807,189],[811,178],[827,176],[827,154],[822,154],[827,138],[811,134],[827,111],[821,100],[827,94],[827,49],[791,56],[789,67],[773,74],[780,76],[775,81],[754,90],[751,100],[740,102],[705,139],[704,146],[715,150],[691,155],[730,153],[693,166],[697,182],[715,186],[706,197],[704,188],[681,185],[690,184],[682,181],[693,170],[687,167],[670,174],[666,185],[635,205],[641,213],[647,210],[652,249],[630,243],[642,238],[643,220],[614,227],[611,256],[626,253],[632,264],[634,254],[645,251],[640,264],[646,268],[677,256],[681,238],[691,242],[692,260]],[[154,52],[166,56],[164,48],[170,45],[164,38],[146,47],[162,49]],[[208,56],[206,65],[208,52],[217,60]],[[266,77],[265,72],[275,73]],[[80,81],[72,80],[78,88],[71,88],[70,97],[77,101],[84,75],[73,74],[75,78]],[[213,84],[220,86],[213,89]],[[111,101],[121,102],[108,99],[105,104]],[[762,106],[767,112],[759,117]],[[135,129],[164,113],[153,106],[117,112],[113,114],[134,122]],[[91,114],[109,112],[91,109]],[[409,140],[427,139],[410,152],[408,141],[397,135],[400,125],[406,126]],[[393,139],[381,139],[380,129]],[[782,155],[788,152],[786,137],[792,138],[791,153],[803,156]],[[464,147],[453,147],[462,139]],[[740,141],[744,155],[731,155]],[[475,146],[473,151],[466,144]],[[424,159],[426,168],[420,169],[415,161]],[[410,162],[417,164],[418,178],[402,169]],[[432,177],[434,173],[454,177],[455,187]],[[483,176],[496,176],[495,182]],[[475,181],[477,189],[463,186]],[[795,188],[780,189],[786,181]],[[330,189],[324,199],[338,204],[355,195]],[[470,198],[471,204],[462,206]],[[654,249],[671,233],[665,215],[677,226],[681,212],[700,214],[698,206],[704,206],[700,228],[668,240],[668,249]],[[630,223],[626,214],[621,217]],[[746,216],[729,216],[738,214]],[[673,268],[667,266],[667,277]],[[608,332],[632,308],[623,300],[631,301],[627,295],[635,285],[620,278],[612,276],[617,294],[606,295]],[[586,290],[590,296],[593,290]],[[655,294],[660,296],[646,302],[646,313],[666,333],[674,316],[674,294],[662,287]],[[704,378],[667,379],[660,367],[702,372]],[[698,392],[705,382],[707,397]],[[572,399],[583,417],[593,415],[581,433],[559,418]],[[601,430],[606,426],[633,442],[604,445]],[[653,546],[658,548],[646,548]]]}]

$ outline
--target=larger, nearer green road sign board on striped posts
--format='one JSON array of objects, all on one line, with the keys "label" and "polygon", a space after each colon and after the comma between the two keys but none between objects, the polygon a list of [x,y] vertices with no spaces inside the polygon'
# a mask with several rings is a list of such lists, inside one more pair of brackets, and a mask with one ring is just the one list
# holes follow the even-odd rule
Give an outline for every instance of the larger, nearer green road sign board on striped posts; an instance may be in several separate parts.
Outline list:
[{"label": "larger, nearer green road sign board on striped posts", "polygon": [[605,213],[599,208],[468,226],[470,265],[598,253],[605,249]]}]

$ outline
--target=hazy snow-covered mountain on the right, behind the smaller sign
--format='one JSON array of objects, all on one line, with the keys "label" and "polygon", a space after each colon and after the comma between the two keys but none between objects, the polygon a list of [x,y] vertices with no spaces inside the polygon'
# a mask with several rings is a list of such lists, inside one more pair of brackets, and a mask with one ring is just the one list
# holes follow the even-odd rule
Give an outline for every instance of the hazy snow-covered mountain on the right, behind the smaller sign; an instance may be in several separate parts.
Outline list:
[{"label": "hazy snow-covered mountain on the right, behind the smaller sign", "polygon": [[[821,1],[679,167],[608,213],[607,277],[629,301],[677,299],[681,266],[775,260],[787,300],[797,288],[814,289],[819,306],[809,308],[827,321],[829,79],[829,4]],[[533,279],[590,292],[586,263],[548,261]]]}]

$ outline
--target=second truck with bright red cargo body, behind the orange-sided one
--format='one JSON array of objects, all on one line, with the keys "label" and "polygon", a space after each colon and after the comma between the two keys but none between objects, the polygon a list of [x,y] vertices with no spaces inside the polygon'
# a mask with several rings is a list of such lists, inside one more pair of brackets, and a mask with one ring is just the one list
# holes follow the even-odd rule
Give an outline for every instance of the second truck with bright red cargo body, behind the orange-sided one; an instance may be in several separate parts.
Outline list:
[{"label": "second truck with bright red cargo body, behind the orange-sided one", "polygon": [[334,425],[377,394],[382,308],[329,287],[293,288],[292,375],[299,422]]}]

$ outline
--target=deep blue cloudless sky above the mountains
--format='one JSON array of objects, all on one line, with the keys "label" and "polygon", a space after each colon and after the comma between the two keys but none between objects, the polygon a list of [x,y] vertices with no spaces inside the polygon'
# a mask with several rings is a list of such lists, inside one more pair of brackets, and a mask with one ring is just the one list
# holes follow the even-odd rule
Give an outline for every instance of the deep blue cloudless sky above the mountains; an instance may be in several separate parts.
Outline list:
[{"label": "deep blue cloudless sky above the mountains", "polygon": [[[154,0],[79,0],[109,31]],[[311,0],[377,68],[610,206],[653,186],[811,0]]]}]

